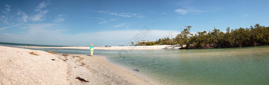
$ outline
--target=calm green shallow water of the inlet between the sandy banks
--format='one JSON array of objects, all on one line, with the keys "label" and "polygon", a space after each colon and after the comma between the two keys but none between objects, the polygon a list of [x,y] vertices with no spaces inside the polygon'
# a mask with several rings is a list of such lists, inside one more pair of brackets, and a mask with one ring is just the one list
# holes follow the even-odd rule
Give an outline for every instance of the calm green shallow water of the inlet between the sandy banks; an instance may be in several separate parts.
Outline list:
[{"label": "calm green shallow water of the inlet between the sandy banks", "polygon": [[[34,49],[89,55],[89,50]],[[156,84],[269,84],[269,46],[192,50],[95,50]],[[121,53],[121,52],[120,52]]]}]

